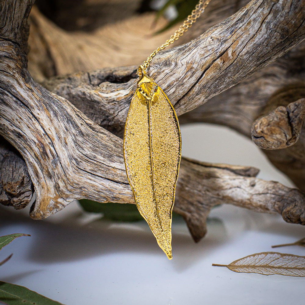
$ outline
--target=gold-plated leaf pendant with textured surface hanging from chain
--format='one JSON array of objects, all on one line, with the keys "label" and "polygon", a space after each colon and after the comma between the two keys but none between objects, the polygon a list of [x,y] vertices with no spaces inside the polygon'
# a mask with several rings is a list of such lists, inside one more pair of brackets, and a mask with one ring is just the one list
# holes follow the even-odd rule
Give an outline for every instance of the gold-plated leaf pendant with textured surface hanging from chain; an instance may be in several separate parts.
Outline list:
[{"label": "gold-plated leaf pendant with textured surface hanging from chain", "polygon": [[162,89],[139,66],[124,132],[124,161],[138,210],[169,259],[175,188],[181,160],[178,118]]}]

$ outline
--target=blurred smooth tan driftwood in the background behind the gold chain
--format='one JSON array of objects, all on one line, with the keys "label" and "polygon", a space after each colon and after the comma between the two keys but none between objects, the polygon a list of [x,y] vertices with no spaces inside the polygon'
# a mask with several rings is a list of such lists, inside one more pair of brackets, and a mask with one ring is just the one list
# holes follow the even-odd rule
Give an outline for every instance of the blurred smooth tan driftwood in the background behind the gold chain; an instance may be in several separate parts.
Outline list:
[{"label": "blurred smooth tan driftwood in the background behind the gold chain", "polygon": [[[184,44],[198,37],[208,28],[236,13],[248,2],[249,0],[215,0],[211,2],[204,15],[192,25],[192,30],[171,46]],[[32,9],[30,13],[28,69],[36,81],[41,81],[45,77],[104,67],[139,65],[176,29],[175,26],[175,28],[155,35],[159,28],[166,25],[166,21],[160,18],[155,24],[155,13],[135,14],[136,8],[140,5],[138,0],[128,2],[129,5],[122,2],[117,5],[117,3],[103,0],[100,0],[99,3],[99,22],[93,21],[98,17],[97,11],[92,12],[88,3],[87,11],[84,3],[79,5],[74,3],[74,7],[70,8],[69,13],[58,12],[61,20],[56,17],[54,19],[57,19],[60,24],[64,23],[65,20],[70,20],[73,16],[73,21],[70,20],[72,23],[70,26],[65,23],[65,28],[72,29],[74,27],[73,32],[59,28],[43,16],[37,8]],[[110,9],[114,5],[115,9]],[[41,6],[43,3],[40,2]],[[75,16],[74,11],[80,6],[83,6],[81,20],[79,20],[80,27],[83,28],[84,19],[87,22],[90,20],[90,24],[86,24],[87,28],[96,27],[98,24],[100,27],[85,33],[75,31],[77,16]],[[66,4],[65,9],[67,9]],[[131,14],[132,11],[134,14]],[[124,18],[122,18],[123,16]],[[111,20],[111,22],[107,24],[106,20]]]}]

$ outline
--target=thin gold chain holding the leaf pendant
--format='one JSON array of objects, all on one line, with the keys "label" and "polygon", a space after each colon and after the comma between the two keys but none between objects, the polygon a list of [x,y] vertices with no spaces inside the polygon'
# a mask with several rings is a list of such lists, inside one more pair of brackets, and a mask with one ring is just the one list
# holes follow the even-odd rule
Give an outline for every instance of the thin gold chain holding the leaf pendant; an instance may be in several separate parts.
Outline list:
[{"label": "thin gold chain holding the leaf pendant", "polygon": [[[146,70],[149,67],[149,63],[152,61],[152,58],[164,48],[168,47],[170,44],[172,44],[174,41],[176,41],[180,36],[185,33],[189,27],[192,26],[193,23],[196,22],[197,18],[203,13],[204,9],[207,7],[207,5],[210,3],[210,0],[206,0],[205,2],[203,0],[199,0],[199,2],[196,4],[195,9],[192,10],[191,15],[188,16],[186,20],[184,20],[183,24],[179,27],[178,30],[175,31],[173,35],[170,36],[167,41],[163,45],[161,45],[159,48],[157,48],[155,51],[153,51],[150,56],[145,60],[143,67],[144,70]],[[139,71],[141,73],[141,71]],[[139,75],[140,76],[140,75]]]}]

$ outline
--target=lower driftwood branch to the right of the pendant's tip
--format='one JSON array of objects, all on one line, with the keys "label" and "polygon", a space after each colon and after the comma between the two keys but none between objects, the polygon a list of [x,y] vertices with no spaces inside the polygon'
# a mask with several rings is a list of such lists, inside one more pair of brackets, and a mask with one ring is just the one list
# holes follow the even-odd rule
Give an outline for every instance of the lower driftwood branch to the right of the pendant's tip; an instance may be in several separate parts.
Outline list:
[{"label": "lower driftwood branch to the right of the pendant's tip", "polygon": [[184,162],[174,211],[184,217],[195,241],[205,235],[206,218],[217,204],[276,212],[287,222],[305,224],[304,194],[299,190],[254,178],[258,171],[251,167]]}]

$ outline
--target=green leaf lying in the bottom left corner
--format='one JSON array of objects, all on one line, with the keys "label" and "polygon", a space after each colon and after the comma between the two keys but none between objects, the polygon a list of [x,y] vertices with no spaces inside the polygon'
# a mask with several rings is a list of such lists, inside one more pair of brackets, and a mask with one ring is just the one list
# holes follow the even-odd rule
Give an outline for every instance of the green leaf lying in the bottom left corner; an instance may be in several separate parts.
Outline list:
[{"label": "green leaf lying in the bottom left corner", "polygon": [[26,287],[0,282],[0,301],[8,305],[63,305]]}]

